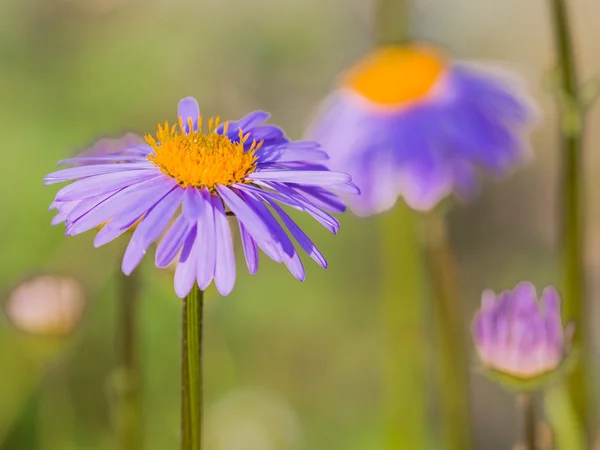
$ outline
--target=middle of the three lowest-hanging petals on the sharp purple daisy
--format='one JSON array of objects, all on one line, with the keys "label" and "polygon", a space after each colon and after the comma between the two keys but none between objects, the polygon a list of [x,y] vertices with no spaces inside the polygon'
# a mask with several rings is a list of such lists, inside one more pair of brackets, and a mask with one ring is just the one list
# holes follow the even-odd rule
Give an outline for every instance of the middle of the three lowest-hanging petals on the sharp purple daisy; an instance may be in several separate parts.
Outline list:
[{"label": "middle of the three lowest-hanging petals on the sharp purple daisy", "polygon": [[198,240],[202,246],[202,251],[198,256],[196,277],[198,287],[206,289],[212,282],[215,273],[217,243],[215,239],[215,217],[211,203],[212,195],[206,188],[203,188],[200,194],[204,203],[202,217],[198,221]]}]

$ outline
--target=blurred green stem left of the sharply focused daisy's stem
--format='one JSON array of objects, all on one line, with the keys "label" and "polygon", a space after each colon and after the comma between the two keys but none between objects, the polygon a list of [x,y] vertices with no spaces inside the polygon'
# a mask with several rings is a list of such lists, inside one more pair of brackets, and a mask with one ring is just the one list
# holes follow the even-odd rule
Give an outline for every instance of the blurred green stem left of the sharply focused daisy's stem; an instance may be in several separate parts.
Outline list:
[{"label": "blurred green stem left of the sharply focused daisy's stem", "polygon": [[141,374],[138,360],[137,272],[125,276],[119,271],[119,335],[120,368],[117,373],[117,434],[123,450],[142,448]]}]

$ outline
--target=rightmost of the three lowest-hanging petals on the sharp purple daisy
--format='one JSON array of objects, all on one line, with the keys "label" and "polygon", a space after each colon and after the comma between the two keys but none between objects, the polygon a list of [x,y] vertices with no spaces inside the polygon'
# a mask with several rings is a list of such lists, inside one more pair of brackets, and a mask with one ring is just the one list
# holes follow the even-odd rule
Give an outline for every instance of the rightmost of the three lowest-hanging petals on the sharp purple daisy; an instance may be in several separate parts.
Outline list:
[{"label": "rightmost of the three lowest-hanging petals on the sharp purple daisy", "polygon": [[215,214],[215,242],[217,254],[215,258],[215,285],[221,295],[229,295],[235,284],[235,257],[231,230],[225,215],[221,199],[211,196]]}]

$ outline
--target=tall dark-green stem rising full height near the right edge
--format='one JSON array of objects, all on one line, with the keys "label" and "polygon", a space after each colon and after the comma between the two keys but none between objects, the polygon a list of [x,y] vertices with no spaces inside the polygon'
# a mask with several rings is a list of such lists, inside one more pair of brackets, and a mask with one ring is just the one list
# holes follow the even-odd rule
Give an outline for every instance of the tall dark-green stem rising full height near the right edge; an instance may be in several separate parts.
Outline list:
[{"label": "tall dark-green stem rising full height near the right edge", "polygon": [[582,141],[583,111],[581,107],[577,71],[569,28],[566,2],[550,0],[556,36],[556,51],[560,70],[559,100],[561,106],[561,145],[563,153],[562,198],[562,253],[564,316],[574,320],[578,332],[574,347],[581,352],[579,362],[569,375],[568,392],[573,410],[580,423],[580,432],[587,434],[592,427],[589,401],[590,380],[587,347],[588,331],[585,311],[585,261],[583,254],[582,211]]}]

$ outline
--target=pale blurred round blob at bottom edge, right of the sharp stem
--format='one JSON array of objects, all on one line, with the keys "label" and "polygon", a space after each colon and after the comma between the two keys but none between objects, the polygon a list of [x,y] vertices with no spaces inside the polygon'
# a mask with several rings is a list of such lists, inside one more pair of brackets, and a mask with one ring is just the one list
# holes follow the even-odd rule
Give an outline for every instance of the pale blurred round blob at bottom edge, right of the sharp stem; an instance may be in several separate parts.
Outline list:
[{"label": "pale blurred round blob at bottom edge, right of the sharp stem", "polygon": [[211,408],[206,421],[210,450],[293,450],[301,427],[283,399],[259,389],[237,389]]}]

